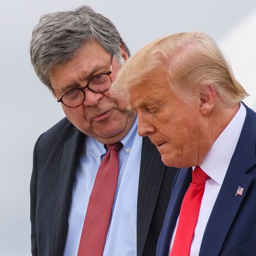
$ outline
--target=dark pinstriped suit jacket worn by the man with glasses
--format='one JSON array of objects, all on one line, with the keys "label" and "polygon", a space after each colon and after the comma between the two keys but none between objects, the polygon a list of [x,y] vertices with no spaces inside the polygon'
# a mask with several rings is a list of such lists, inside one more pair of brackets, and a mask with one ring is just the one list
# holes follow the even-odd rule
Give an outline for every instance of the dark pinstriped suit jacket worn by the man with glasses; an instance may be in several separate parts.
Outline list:
[{"label": "dark pinstriped suit jacket worn by the man with glasses", "polygon": [[[64,118],[36,142],[30,183],[33,256],[63,255],[76,163],[85,137]],[[155,255],[175,173],[175,168],[161,162],[150,140],[143,138],[137,205],[138,256]]]}]

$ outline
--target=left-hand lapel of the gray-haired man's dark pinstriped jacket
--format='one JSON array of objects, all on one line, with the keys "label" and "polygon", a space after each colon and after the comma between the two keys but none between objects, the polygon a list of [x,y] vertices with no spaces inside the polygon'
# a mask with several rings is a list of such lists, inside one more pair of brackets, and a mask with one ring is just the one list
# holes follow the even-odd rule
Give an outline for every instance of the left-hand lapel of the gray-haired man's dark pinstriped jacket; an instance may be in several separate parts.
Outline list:
[{"label": "left-hand lapel of the gray-haired man's dark pinstriped jacket", "polygon": [[64,252],[76,162],[83,141],[83,134],[76,128],[74,129],[74,135],[65,143],[60,167],[59,189],[52,234],[52,252],[56,256],[63,255]]}]

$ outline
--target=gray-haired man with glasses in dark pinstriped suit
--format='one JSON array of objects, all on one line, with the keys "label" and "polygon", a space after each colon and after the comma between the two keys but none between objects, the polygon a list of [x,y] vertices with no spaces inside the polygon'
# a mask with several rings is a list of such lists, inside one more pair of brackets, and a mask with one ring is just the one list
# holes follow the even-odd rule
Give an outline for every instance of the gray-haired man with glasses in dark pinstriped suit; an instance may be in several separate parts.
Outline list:
[{"label": "gray-haired man with glasses in dark pinstriped suit", "polygon": [[88,6],[44,15],[30,55],[66,115],[34,149],[32,255],[155,255],[176,169],[108,95],[129,57],[114,24]]}]

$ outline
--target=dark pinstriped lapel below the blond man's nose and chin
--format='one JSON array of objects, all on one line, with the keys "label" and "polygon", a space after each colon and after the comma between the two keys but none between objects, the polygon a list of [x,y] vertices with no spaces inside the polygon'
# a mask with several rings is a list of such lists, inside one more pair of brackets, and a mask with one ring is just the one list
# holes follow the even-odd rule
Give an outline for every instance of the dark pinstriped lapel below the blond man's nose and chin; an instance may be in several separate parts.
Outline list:
[{"label": "dark pinstriped lapel below the blond man's nose and chin", "polygon": [[148,137],[142,139],[137,202],[137,255],[141,256],[163,180],[165,165]]}]

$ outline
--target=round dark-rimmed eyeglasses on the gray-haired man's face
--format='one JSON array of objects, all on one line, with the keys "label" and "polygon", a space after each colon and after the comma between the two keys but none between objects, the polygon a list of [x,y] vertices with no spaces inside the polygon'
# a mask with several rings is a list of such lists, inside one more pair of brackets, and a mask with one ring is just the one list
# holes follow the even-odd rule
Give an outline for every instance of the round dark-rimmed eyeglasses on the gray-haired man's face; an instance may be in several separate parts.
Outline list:
[{"label": "round dark-rimmed eyeglasses on the gray-haired man's face", "polygon": [[106,92],[112,83],[112,79],[110,76],[112,72],[112,59],[113,54],[111,54],[110,71],[93,75],[85,86],[81,88],[71,89],[65,92],[62,96],[60,96],[59,99],[55,95],[57,102],[62,102],[65,106],[69,108],[75,108],[77,106],[82,105],[85,101],[84,90],[86,88],[88,88],[89,91],[94,93]]}]

